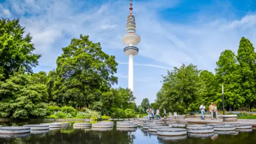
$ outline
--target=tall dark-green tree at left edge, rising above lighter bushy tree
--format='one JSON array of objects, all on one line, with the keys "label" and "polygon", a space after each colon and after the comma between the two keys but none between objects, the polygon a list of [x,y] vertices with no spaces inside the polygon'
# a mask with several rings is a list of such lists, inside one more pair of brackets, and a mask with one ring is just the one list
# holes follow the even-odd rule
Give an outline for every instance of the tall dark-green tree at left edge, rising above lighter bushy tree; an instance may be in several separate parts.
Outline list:
[{"label": "tall dark-green tree at left edge, rising above lighter bushy tree", "polygon": [[33,54],[34,44],[19,19],[0,19],[0,80],[7,80],[20,67],[32,73],[41,55]]}]

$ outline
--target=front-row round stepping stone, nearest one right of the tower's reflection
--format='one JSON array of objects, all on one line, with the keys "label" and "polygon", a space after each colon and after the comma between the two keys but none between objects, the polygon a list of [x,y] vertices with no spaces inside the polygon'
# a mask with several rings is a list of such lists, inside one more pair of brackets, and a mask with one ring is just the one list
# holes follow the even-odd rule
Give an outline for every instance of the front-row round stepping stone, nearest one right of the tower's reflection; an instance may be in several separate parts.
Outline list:
[{"label": "front-row round stepping stone, nearest one right of the tower's reflection", "polygon": [[157,135],[160,135],[160,136],[187,135],[187,129],[185,129],[185,128],[161,128],[161,129],[157,129]]}]

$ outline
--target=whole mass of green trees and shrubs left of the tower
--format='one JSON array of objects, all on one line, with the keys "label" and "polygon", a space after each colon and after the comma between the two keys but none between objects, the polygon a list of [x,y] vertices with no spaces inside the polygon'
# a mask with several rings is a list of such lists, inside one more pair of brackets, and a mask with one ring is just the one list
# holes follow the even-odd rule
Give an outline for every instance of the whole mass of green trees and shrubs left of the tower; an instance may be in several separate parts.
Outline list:
[{"label": "whole mass of green trees and shrubs left of the tower", "polygon": [[134,117],[136,97],[118,82],[115,57],[80,35],[62,48],[56,69],[33,73],[41,55],[19,19],[0,19],[0,117],[98,119]]}]

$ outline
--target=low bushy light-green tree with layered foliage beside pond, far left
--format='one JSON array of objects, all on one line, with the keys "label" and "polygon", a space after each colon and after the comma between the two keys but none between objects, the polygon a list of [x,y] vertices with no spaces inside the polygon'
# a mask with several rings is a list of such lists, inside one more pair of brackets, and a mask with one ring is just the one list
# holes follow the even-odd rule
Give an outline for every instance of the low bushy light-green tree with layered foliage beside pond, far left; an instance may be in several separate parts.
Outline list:
[{"label": "low bushy light-green tree with layered foliage beside pond, far left", "polygon": [[35,84],[23,71],[0,81],[0,117],[31,118],[47,115],[47,87]]}]

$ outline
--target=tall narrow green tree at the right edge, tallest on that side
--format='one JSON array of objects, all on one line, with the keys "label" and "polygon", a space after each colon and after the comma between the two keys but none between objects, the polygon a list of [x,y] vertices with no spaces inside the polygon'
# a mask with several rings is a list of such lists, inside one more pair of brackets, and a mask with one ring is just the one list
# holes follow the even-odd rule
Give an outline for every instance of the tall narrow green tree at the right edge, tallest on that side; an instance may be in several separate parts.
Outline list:
[{"label": "tall narrow green tree at the right edge, tallest on that side", "polygon": [[238,49],[238,63],[239,63],[239,73],[241,75],[241,96],[246,100],[246,106],[250,110],[251,106],[254,106],[256,102],[256,89],[255,89],[255,58],[256,54],[254,52],[253,44],[242,37]]}]

